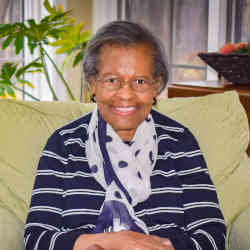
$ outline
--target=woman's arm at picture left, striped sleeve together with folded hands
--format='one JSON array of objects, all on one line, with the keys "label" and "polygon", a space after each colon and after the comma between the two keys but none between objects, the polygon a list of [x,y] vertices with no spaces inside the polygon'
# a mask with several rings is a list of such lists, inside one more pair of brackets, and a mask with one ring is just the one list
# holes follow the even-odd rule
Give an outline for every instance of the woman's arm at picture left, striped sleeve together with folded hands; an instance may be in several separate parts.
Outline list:
[{"label": "woman's arm at picture left, striped sleeve together with folded hands", "polygon": [[65,228],[62,177],[67,157],[64,142],[56,132],[49,138],[38,164],[25,227],[26,250],[83,250],[95,244],[105,250],[172,250],[159,238],[131,231],[92,234],[88,227]]}]

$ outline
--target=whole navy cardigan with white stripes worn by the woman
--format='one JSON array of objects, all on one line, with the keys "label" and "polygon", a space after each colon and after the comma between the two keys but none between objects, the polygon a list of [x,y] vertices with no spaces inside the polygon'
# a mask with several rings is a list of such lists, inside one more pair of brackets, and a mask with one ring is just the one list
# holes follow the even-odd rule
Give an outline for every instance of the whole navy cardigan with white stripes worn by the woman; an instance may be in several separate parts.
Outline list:
[{"label": "whole navy cardigan with white stripes worn by the woman", "polygon": [[[150,234],[169,238],[175,250],[223,250],[226,228],[215,187],[190,131],[151,111],[158,140],[152,194],[134,207]],[[91,113],[58,129],[42,153],[24,241],[27,250],[70,250],[93,231],[105,190],[85,153]]]}]

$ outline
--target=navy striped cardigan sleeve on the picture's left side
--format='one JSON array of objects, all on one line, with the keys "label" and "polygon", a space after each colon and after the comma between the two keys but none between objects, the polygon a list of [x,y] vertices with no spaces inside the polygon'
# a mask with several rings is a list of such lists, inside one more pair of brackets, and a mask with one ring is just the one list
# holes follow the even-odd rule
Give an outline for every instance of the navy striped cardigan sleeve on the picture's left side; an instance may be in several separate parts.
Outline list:
[{"label": "navy striped cardigan sleeve on the picture's left side", "polygon": [[26,250],[69,250],[76,238],[91,233],[90,228],[65,229],[62,223],[64,169],[68,159],[61,136],[48,140],[36,173],[28,212],[24,242]]}]

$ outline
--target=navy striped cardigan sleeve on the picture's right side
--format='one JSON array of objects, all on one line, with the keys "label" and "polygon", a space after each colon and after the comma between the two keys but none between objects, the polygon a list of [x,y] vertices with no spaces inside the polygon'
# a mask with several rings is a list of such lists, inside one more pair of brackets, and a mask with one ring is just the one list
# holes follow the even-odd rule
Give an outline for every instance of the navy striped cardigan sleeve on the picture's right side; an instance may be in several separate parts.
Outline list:
[{"label": "navy striped cardigan sleeve on the picture's right side", "polygon": [[195,137],[188,129],[178,159],[183,189],[184,230],[169,233],[175,250],[225,250],[226,226],[217,193]]}]

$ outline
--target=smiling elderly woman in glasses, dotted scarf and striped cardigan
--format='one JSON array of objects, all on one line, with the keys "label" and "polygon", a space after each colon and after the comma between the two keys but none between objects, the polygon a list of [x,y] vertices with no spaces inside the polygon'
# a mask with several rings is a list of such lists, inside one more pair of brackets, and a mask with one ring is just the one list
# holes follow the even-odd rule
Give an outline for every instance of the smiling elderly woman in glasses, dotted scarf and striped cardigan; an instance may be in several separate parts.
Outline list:
[{"label": "smiling elderly woman in glasses, dotted scarf and striped cardigan", "polygon": [[27,250],[223,250],[216,190],[190,131],[152,110],[168,79],[143,26],[116,21],[89,42],[96,109],[58,129],[42,153]]}]

